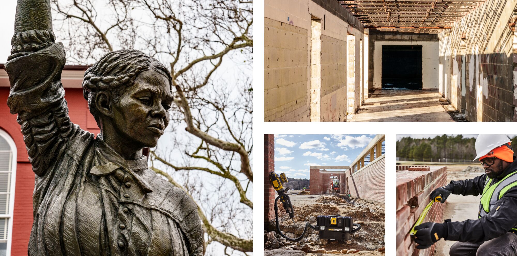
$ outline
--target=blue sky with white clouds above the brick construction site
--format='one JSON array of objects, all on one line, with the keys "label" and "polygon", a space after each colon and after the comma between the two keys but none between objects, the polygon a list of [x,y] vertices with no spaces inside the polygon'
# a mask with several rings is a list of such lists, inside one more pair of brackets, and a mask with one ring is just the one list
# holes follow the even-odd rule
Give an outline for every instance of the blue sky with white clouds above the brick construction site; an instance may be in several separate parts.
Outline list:
[{"label": "blue sky with white clouds above the brick construction site", "polygon": [[350,165],[373,134],[275,134],[275,172],[309,179],[311,165]]}]

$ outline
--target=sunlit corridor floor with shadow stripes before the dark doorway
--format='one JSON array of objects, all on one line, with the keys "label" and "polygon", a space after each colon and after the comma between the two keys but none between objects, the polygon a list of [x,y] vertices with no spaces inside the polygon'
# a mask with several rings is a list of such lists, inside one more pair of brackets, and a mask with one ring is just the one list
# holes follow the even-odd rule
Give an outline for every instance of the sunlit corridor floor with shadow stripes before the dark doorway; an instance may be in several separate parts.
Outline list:
[{"label": "sunlit corridor floor with shadow stripes before the dark doorway", "polygon": [[438,90],[375,90],[351,122],[454,122]]}]

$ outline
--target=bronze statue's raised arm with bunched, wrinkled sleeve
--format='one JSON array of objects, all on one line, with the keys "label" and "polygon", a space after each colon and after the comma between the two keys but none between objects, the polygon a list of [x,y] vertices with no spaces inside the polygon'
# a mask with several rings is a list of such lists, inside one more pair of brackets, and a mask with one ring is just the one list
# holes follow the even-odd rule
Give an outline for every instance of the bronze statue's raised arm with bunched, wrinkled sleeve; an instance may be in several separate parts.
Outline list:
[{"label": "bronze statue's raised arm with bunched, wrinkled sleeve", "polygon": [[18,114],[34,172],[44,175],[73,127],[60,81],[65,51],[54,43],[49,0],[18,0],[14,27],[7,104]]}]

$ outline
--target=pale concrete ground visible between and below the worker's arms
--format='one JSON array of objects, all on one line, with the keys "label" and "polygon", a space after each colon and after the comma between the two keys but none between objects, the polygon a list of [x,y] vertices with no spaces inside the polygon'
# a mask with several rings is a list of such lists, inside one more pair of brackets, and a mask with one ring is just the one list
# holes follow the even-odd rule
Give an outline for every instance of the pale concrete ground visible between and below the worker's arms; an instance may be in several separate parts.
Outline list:
[{"label": "pale concrete ground visible between and below the worker's arms", "polygon": [[[477,219],[480,200],[481,196],[450,195],[447,198],[443,219],[451,219],[451,221]],[[436,245],[436,253],[434,256],[449,256],[449,248],[454,243],[456,243],[456,241],[445,241],[441,239]]]}]

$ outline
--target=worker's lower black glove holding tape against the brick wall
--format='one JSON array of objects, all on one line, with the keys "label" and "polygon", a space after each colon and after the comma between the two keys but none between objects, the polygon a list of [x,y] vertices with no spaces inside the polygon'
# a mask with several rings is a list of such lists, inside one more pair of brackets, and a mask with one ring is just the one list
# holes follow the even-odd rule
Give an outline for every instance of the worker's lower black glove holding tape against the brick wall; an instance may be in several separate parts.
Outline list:
[{"label": "worker's lower black glove holding tape against the brick wall", "polygon": [[425,222],[415,227],[415,243],[417,249],[431,247],[440,238],[446,238],[449,234],[446,223]]}]

